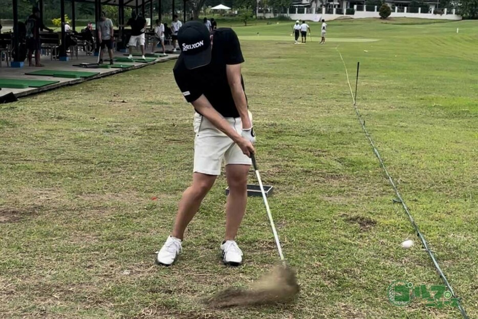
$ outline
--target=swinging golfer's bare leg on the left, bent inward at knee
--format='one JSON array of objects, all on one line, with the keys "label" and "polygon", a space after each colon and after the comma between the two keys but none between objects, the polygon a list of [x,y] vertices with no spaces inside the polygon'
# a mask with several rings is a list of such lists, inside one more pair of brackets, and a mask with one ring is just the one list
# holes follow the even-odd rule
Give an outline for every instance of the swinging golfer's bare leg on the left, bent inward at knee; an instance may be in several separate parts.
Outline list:
[{"label": "swinging golfer's bare leg on the left, bent inward at knee", "polygon": [[183,197],[179,202],[176,222],[171,233],[172,237],[183,239],[184,230],[186,230],[187,225],[196,215],[196,212],[198,212],[201,202],[206,197],[215,180],[215,175],[202,173],[194,173],[192,175],[192,185],[184,191]]}]

